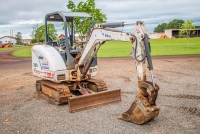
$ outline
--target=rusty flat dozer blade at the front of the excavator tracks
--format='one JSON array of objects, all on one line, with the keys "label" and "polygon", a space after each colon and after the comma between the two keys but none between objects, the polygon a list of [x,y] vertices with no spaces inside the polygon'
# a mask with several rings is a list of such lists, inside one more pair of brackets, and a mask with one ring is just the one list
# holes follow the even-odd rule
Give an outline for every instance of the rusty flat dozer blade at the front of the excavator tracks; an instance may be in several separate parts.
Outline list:
[{"label": "rusty flat dozer blade at the front of the excavator tracks", "polygon": [[68,107],[70,112],[76,112],[117,101],[121,101],[120,89],[69,97]]}]

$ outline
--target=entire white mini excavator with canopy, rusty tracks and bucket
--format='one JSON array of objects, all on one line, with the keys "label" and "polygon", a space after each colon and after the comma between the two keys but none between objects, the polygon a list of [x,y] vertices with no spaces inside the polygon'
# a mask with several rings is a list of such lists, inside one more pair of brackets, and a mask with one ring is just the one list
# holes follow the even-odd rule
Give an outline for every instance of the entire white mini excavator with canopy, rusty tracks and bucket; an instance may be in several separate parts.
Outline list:
[{"label": "entire white mini excavator with canopy, rusty tracks and bucket", "polygon": [[[65,36],[59,41],[50,37],[48,22],[61,22]],[[89,38],[75,46],[75,23],[90,25]],[[133,33],[113,30],[135,25]],[[144,124],[159,114],[156,98],[159,86],[154,82],[148,32],[143,22],[94,24],[94,19],[84,12],[57,11],[45,17],[46,44],[32,47],[32,72],[41,80],[36,81],[36,91],[42,92],[56,104],[68,104],[70,112],[121,101],[121,90],[107,90],[106,83],[95,79],[97,52],[106,41],[130,41],[131,56],[135,59],[139,93],[130,108],[119,119]],[[83,45],[86,44],[86,45]],[[151,81],[147,81],[146,68]]]}]

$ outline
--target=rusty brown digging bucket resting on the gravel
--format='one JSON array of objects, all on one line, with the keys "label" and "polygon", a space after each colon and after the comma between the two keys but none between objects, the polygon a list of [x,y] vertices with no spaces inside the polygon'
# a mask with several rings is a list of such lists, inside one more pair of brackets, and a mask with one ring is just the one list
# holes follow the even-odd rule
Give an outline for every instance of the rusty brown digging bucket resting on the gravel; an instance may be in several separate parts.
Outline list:
[{"label": "rusty brown digging bucket resting on the gravel", "polygon": [[139,88],[143,90],[143,94],[147,94],[146,89],[151,91],[151,94],[144,96],[139,93],[136,96],[135,101],[133,101],[131,107],[118,118],[125,121],[130,121],[136,124],[144,124],[154,118],[159,114],[159,108],[155,104],[157,98],[159,87],[155,85],[154,88],[151,82],[140,82]]}]

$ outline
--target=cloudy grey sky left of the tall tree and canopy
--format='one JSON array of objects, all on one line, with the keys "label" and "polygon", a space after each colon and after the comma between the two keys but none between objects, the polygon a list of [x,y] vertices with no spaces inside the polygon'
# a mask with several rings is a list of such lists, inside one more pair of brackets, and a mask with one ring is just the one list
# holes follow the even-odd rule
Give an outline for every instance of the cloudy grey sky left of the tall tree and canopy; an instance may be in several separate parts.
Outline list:
[{"label": "cloudy grey sky left of the tall tree and canopy", "polygon": [[22,32],[23,38],[30,38],[34,25],[43,24],[47,13],[66,11],[66,4],[66,0],[7,0],[0,5],[0,37],[10,35],[13,30]]}]

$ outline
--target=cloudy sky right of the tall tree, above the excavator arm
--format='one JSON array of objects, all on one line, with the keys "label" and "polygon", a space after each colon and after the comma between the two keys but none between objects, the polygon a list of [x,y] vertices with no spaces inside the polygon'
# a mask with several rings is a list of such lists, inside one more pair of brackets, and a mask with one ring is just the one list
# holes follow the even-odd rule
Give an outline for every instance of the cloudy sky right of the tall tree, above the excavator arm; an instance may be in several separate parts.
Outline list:
[{"label": "cloudy sky right of the tall tree, above the excavator arm", "polygon": [[97,6],[103,7],[109,22],[144,21],[148,31],[160,23],[168,23],[173,19],[194,20],[200,25],[199,0],[101,0]]}]

